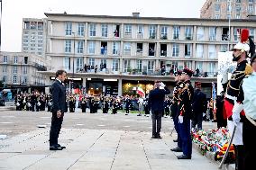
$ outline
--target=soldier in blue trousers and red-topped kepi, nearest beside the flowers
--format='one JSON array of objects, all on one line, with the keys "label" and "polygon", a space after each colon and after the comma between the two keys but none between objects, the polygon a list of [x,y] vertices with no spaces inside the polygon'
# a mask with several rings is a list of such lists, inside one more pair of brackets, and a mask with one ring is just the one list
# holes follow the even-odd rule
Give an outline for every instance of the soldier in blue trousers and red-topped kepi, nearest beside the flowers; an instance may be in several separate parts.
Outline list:
[{"label": "soldier in blue trousers and red-topped kepi, nearest beside the flowers", "polygon": [[180,76],[181,81],[184,81],[184,88],[180,94],[181,100],[178,103],[178,123],[183,155],[178,156],[178,159],[191,159],[192,155],[192,139],[190,135],[190,120],[192,118],[191,103],[194,95],[194,88],[190,82],[192,75],[192,70],[184,68]]}]

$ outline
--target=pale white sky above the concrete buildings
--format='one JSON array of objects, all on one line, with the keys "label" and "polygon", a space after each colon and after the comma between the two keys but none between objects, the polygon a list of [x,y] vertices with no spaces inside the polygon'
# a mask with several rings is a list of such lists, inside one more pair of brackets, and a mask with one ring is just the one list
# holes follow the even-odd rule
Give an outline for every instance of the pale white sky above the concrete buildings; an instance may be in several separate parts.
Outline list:
[{"label": "pale white sky above the concrete buildings", "polygon": [[44,13],[101,14],[147,17],[199,18],[206,0],[2,0],[2,51],[22,50],[23,18],[45,18]]}]

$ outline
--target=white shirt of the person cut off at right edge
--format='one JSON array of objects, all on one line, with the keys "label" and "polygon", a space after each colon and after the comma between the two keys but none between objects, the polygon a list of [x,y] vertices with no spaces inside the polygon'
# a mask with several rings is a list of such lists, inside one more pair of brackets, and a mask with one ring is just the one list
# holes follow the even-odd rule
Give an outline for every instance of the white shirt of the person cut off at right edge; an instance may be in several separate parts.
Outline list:
[{"label": "white shirt of the person cut off at right edge", "polygon": [[256,72],[243,78],[242,90],[244,94],[243,110],[246,116],[256,120]]}]

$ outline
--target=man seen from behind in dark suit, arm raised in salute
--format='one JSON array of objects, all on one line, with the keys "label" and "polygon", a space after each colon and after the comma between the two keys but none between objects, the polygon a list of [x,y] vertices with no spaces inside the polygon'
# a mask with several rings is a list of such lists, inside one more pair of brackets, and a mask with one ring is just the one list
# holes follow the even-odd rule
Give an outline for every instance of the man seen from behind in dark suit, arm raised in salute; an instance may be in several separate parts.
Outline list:
[{"label": "man seen from behind in dark suit, arm raised in salute", "polygon": [[152,113],[152,139],[161,139],[161,116],[164,112],[165,94],[170,94],[169,89],[159,81],[155,82],[155,89],[149,95],[149,108]]}]

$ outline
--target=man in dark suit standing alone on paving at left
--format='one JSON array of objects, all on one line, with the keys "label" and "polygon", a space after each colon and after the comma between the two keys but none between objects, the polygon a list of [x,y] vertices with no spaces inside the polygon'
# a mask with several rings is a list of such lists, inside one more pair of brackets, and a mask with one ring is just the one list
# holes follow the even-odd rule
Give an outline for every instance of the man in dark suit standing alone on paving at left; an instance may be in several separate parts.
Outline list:
[{"label": "man in dark suit standing alone on paving at left", "polygon": [[51,109],[52,117],[50,126],[50,150],[62,150],[65,148],[58,144],[58,138],[64,112],[67,112],[66,87],[63,83],[66,78],[67,72],[64,70],[58,70],[56,72],[56,80],[51,85],[51,96],[53,104]]}]

